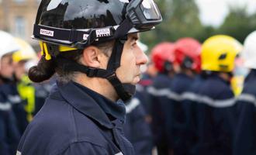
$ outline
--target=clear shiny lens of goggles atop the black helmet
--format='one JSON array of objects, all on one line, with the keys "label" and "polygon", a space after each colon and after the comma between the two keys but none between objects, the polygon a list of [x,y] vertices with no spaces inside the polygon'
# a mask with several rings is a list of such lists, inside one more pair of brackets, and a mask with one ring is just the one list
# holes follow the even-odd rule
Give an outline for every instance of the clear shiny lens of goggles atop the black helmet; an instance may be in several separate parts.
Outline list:
[{"label": "clear shiny lens of goggles atop the black helmet", "polygon": [[143,0],[140,4],[140,9],[142,10],[146,19],[161,19],[161,15],[158,12],[157,6],[153,0]]}]

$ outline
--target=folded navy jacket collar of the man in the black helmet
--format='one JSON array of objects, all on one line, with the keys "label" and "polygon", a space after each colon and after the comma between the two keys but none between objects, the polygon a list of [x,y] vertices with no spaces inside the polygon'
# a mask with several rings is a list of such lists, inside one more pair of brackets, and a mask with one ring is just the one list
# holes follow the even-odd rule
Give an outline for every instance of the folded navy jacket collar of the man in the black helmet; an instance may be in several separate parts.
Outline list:
[{"label": "folded navy jacket collar of the man in the black helmet", "polygon": [[70,81],[67,84],[57,82],[58,90],[62,97],[76,108],[79,112],[87,115],[89,118],[99,122],[100,125],[112,129],[113,125],[110,122],[106,112],[102,110],[99,104],[86,91],[78,88],[74,82]]}]

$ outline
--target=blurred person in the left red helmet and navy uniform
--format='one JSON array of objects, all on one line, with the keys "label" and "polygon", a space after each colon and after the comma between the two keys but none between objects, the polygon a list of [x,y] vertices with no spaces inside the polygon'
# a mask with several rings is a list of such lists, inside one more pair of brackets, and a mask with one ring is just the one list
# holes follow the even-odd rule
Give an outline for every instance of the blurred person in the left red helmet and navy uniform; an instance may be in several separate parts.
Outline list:
[{"label": "blurred person in the left red helmet and navy uniform", "polygon": [[153,83],[147,88],[150,95],[150,114],[152,116],[151,128],[154,136],[154,145],[157,146],[158,155],[168,154],[168,148],[172,144],[167,141],[166,126],[166,105],[168,98],[166,92],[169,91],[171,84],[171,76],[174,75],[173,60],[174,58],[173,43],[164,42],[157,44],[151,50],[151,60],[154,67],[157,68],[157,75],[153,79]]}]

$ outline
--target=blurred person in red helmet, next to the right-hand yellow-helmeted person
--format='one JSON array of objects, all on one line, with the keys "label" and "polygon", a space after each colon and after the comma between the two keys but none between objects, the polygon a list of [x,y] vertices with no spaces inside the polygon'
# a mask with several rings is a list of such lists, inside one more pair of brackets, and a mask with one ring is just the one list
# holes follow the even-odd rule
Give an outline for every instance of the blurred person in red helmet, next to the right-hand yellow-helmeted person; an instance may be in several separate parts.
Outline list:
[{"label": "blurred person in red helmet, next to the right-hand yellow-helmeted person", "polygon": [[166,110],[168,143],[173,143],[174,154],[185,155],[186,105],[182,105],[182,93],[187,91],[200,71],[201,44],[193,38],[182,38],[175,42],[175,76],[171,80]]}]

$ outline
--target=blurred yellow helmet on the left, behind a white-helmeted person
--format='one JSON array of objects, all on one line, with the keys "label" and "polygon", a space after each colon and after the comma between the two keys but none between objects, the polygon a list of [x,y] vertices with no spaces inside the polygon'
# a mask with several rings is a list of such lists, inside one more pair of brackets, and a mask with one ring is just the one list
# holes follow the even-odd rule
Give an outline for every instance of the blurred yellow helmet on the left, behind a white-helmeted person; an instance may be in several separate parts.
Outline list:
[{"label": "blurred yellow helmet on the left, behind a white-helmeted person", "polygon": [[15,38],[16,43],[19,45],[19,50],[12,54],[12,59],[14,62],[19,62],[21,60],[36,60],[36,52],[33,48],[26,43],[26,41],[19,38]]}]

